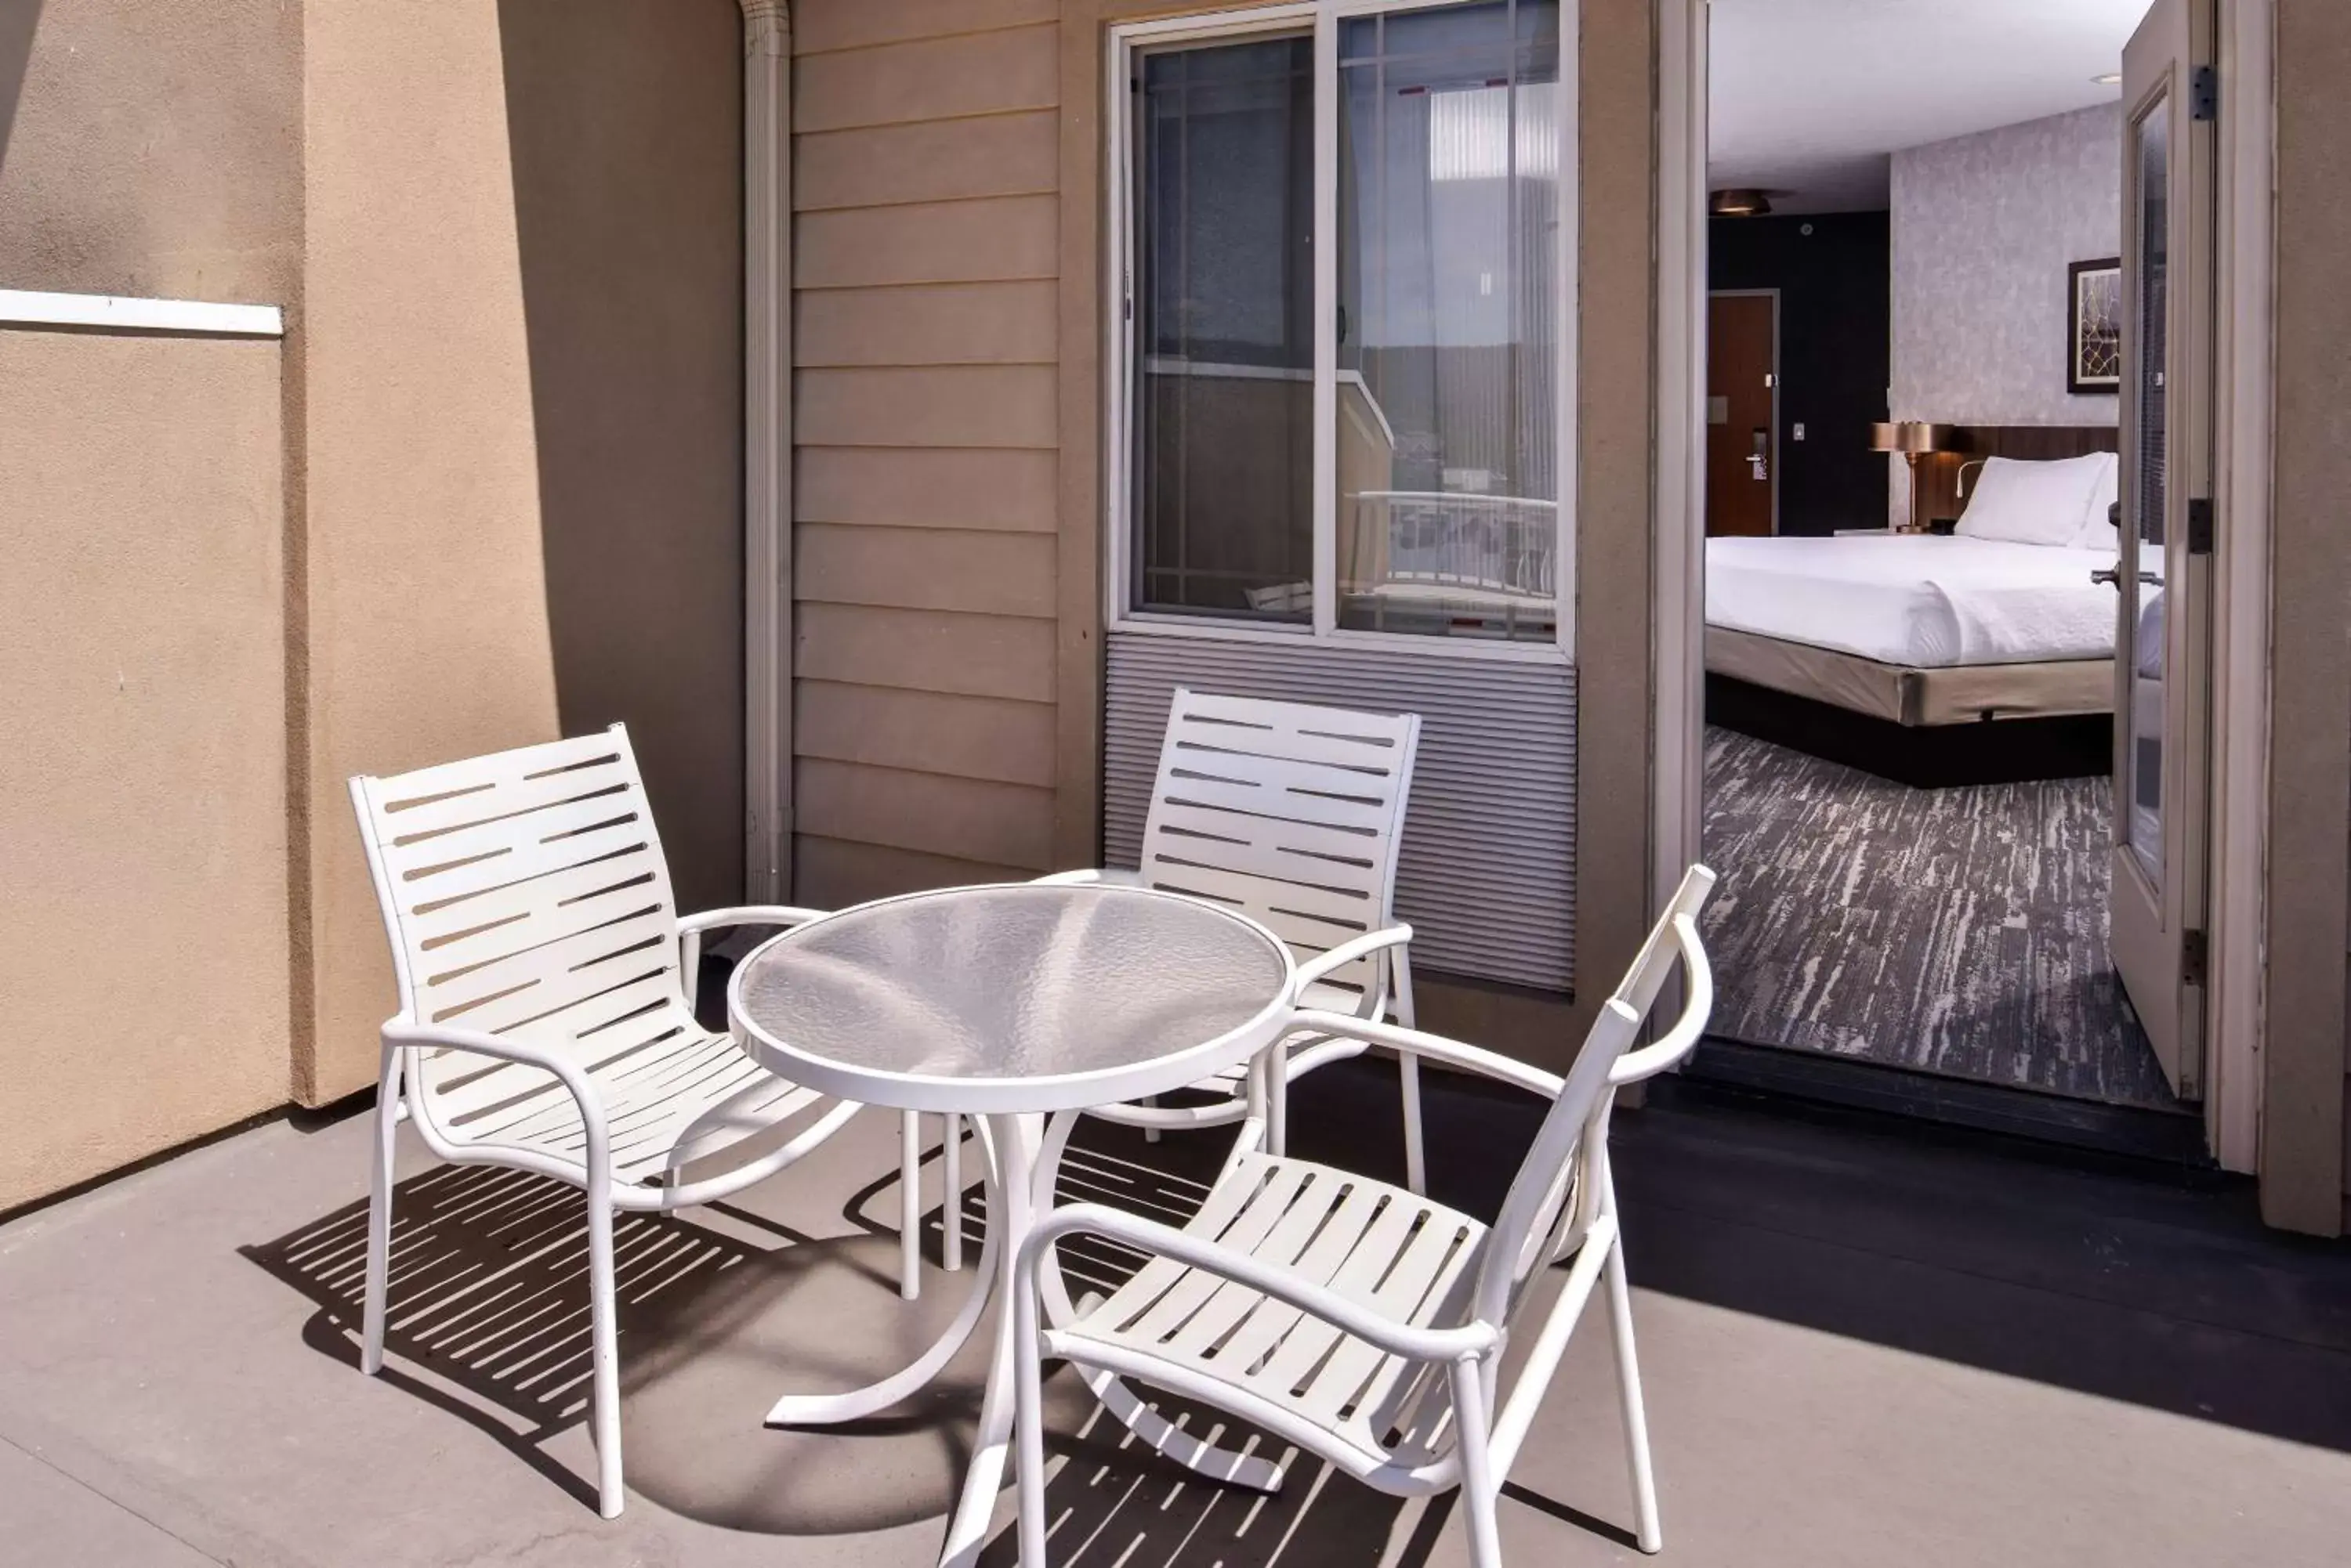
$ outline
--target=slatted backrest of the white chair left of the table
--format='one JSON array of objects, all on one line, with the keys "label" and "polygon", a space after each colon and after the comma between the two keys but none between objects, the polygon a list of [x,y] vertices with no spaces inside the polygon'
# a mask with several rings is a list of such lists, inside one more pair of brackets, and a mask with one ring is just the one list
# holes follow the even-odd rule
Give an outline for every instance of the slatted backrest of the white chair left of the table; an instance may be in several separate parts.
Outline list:
[{"label": "slatted backrest of the white chair left of the table", "polygon": [[[694,1027],[670,867],[623,726],[353,778],[350,795],[409,1018],[583,1065]],[[416,1088],[449,1088],[447,1074],[484,1065],[433,1053]]]}]

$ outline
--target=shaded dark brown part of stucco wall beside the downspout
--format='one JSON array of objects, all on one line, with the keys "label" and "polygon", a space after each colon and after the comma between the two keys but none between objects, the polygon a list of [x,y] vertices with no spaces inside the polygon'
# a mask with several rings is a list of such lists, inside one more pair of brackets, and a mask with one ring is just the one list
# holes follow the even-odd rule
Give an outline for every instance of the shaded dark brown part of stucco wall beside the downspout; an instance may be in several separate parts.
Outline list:
[{"label": "shaded dark brown part of stucco wall beside the downspout", "polygon": [[743,893],[743,9],[503,0],[564,733],[630,726],[689,910]]}]

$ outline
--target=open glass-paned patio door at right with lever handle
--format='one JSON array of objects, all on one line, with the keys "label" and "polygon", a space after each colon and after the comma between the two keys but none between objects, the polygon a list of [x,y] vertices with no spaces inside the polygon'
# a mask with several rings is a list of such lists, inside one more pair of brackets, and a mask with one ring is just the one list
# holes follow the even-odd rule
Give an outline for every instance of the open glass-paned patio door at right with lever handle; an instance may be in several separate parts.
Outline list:
[{"label": "open glass-paned patio door at right with lever handle", "polygon": [[2123,512],[2114,966],[2182,1098],[2203,1095],[2212,578],[2212,0],[2123,49]]}]

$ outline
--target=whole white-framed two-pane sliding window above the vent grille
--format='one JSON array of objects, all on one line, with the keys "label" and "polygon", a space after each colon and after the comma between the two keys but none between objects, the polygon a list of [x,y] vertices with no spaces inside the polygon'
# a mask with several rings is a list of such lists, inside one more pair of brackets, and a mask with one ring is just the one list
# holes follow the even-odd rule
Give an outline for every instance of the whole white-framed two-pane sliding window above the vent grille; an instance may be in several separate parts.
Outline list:
[{"label": "whole white-framed two-pane sliding window above the vent grille", "polygon": [[1563,644],[1561,5],[1255,26],[1121,49],[1114,616]]}]

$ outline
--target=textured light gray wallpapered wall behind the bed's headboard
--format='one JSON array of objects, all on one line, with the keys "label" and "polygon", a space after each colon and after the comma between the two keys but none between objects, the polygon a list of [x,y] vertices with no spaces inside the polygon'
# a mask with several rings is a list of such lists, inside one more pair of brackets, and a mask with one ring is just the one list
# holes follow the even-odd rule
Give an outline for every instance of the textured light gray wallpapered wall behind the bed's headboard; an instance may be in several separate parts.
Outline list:
[{"label": "textured light gray wallpapered wall behind the bed's headboard", "polygon": [[[2123,115],[2071,115],[1893,158],[1893,416],[1975,425],[2114,423],[2064,390],[2067,263],[2123,249]],[[1909,487],[1890,458],[1888,517]]]}]

